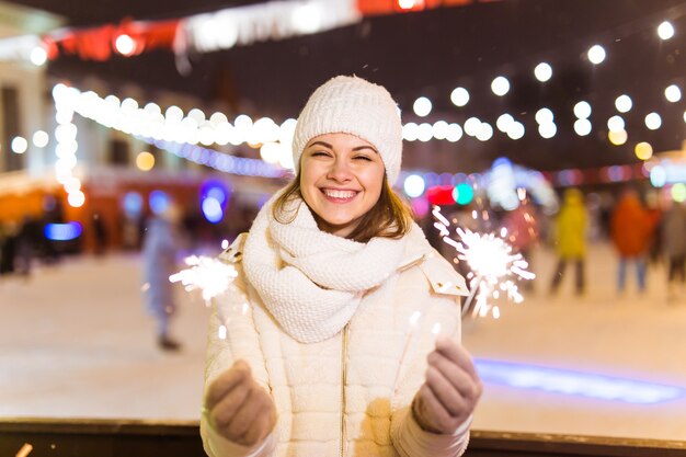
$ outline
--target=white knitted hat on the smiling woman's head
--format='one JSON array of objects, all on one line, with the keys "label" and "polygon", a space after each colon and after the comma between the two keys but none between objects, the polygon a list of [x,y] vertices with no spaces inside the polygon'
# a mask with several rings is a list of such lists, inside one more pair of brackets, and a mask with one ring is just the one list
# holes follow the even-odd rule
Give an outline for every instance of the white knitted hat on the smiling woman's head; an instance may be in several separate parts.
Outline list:
[{"label": "white knitted hat on the smiling woman's head", "polygon": [[388,183],[400,172],[402,124],[388,91],[357,77],[339,76],[320,85],[300,112],[293,137],[296,173],[308,141],[319,135],[344,133],[369,141],[384,161]]}]

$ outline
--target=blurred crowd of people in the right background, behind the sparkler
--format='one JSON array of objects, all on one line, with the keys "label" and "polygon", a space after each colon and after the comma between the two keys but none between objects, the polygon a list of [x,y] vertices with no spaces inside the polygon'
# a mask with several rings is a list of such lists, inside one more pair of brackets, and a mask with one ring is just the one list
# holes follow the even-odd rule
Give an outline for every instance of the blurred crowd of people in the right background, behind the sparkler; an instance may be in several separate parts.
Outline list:
[{"label": "blurred crowd of people in the right background, behind the sparkler", "polygon": [[[502,231],[514,252],[529,263],[536,247],[554,251],[557,265],[548,285],[551,295],[571,271],[578,295],[587,292],[586,253],[590,242],[609,242],[616,253],[616,290],[624,294],[634,278],[639,294],[645,292],[649,270],[658,265],[666,269],[667,297],[686,297],[686,205],[672,198],[660,198],[656,193],[641,195],[627,187],[617,196],[585,195],[579,188],[567,188],[560,196],[557,212],[548,214],[529,198],[522,198],[512,210],[498,210],[483,203],[470,204],[447,213],[454,226],[472,231]],[[454,259],[455,250],[441,241],[433,227],[431,214],[424,220],[426,236],[446,258]],[[468,273],[468,265],[459,262],[457,269]],[[656,285],[658,286],[658,285]],[[660,285],[662,286],[662,285]],[[531,288],[533,283],[525,283]]]}]

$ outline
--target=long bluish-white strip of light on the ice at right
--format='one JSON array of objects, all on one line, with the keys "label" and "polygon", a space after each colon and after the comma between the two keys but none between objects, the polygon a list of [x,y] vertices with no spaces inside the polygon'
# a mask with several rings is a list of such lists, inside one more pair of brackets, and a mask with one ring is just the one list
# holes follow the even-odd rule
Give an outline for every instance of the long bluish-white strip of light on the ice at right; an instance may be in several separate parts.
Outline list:
[{"label": "long bluish-white strip of light on the ice at right", "polygon": [[678,387],[567,369],[485,359],[476,361],[476,366],[484,381],[602,400],[658,403],[685,395]]}]

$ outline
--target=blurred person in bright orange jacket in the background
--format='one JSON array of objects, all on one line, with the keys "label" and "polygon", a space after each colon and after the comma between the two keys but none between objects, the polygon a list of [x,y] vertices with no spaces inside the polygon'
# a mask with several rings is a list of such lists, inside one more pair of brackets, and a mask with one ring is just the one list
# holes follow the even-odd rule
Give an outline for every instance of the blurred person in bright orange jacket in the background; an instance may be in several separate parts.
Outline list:
[{"label": "blurred person in bright orange jacket in the background", "polygon": [[617,292],[624,293],[627,279],[627,265],[636,265],[636,279],[640,293],[645,290],[645,259],[651,241],[651,224],[648,212],[641,204],[638,193],[629,188],[624,192],[610,219],[610,239],[617,254]]}]

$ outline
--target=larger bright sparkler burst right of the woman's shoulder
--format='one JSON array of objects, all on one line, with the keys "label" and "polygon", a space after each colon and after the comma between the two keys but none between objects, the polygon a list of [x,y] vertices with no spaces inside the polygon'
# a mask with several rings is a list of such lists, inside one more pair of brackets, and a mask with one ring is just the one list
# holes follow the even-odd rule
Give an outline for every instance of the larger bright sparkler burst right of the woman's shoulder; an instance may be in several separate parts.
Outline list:
[{"label": "larger bright sparkler burst right of the woman's shoulder", "polygon": [[519,253],[513,253],[512,247],[505,241],[506,230],[500,236],[494,233],[477,233],[469,229],[455,230],[459,241],[449,237],[450,222],[441,214],[439,207],[432,212],[436,218],[436,227],[443,241],[455,248],[457,258],[467,262],[471,272],[467,275],[470,294],[462,305],[462,316],[471,311],[472,316],[485,317],[491,313],[495,319],[500,317],[500,308],[492,305],[492,299],[501,295],[514,302],[522,302],[515,281],[534,279],[536,275],[526,269],[528,263]]}]

